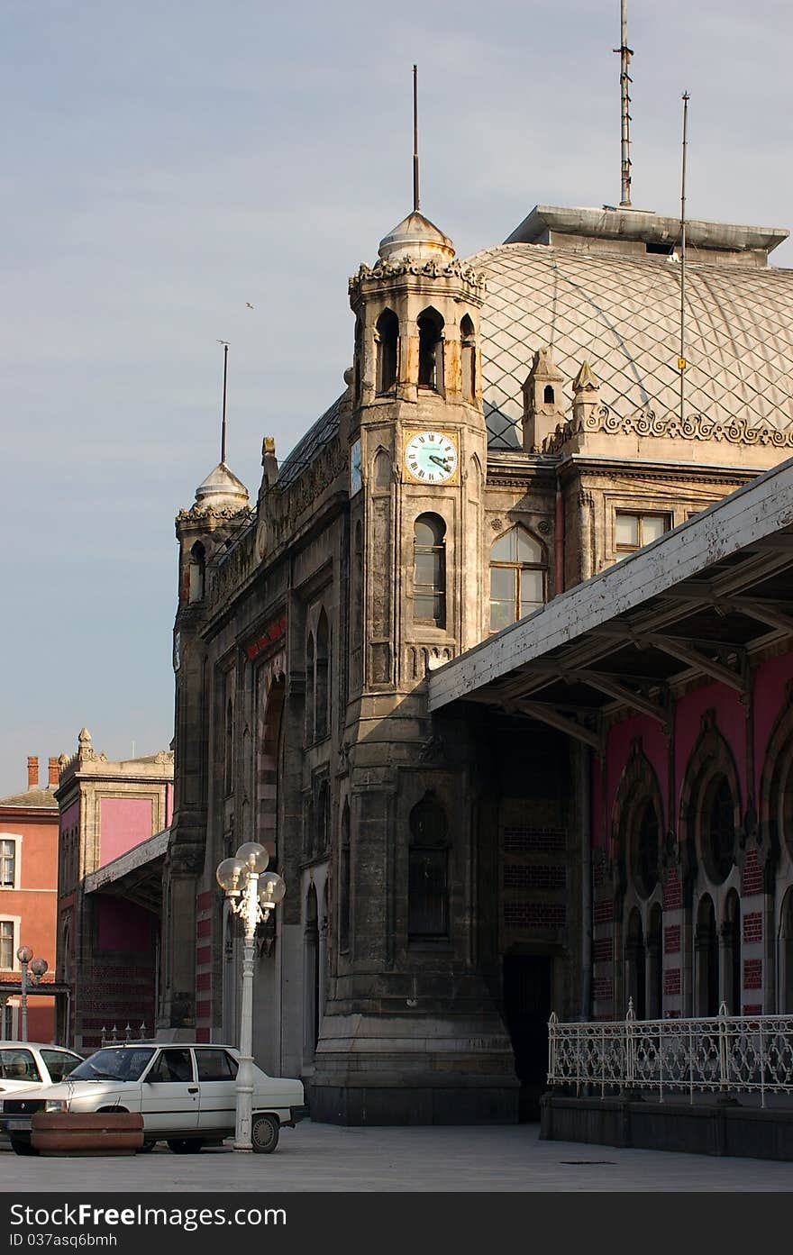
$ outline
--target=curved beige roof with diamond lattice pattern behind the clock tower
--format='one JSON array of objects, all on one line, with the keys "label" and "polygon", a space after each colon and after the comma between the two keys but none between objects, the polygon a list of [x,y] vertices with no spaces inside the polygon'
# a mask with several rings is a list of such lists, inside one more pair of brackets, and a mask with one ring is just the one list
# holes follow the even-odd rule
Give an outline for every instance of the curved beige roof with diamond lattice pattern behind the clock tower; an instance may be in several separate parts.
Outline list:
[{"label": "curved beige roof with diamond lattice pattern behind the clock tower", "polygon": [[[587,359],[601,400],[627,418],[678,408],[680,266],[511,243],[467,259],[483,271],[482,375],[491,448],[519,448],[522,387],[551,348],[572,380]],[[793,428],[793,271],[689,262],[686,397],[719,423]]]}]

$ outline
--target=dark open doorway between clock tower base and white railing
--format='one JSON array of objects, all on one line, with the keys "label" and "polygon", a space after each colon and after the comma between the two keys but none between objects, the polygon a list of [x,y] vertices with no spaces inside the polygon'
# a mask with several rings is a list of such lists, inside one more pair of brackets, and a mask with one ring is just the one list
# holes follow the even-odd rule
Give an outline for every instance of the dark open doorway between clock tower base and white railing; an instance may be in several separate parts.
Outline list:
[{"label": "dark open doorway between clock tower base and white railing", "polygon": [[507,954],[503,966],[504,1019],[521,1082],[521,1121],[540,1119],[540,1096],[547,1089],[551,959]]}]

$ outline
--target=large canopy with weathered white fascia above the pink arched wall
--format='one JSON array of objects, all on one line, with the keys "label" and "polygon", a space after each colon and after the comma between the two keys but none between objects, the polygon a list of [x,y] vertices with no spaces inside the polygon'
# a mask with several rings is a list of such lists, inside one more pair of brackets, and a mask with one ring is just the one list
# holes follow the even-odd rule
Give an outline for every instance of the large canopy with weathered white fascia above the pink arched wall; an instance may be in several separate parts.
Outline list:
[{"label": "large canopy with weathered white fascia above the pink arched wall", "polygon": [[523,714],[601,748],[602,717],[668,725],[675,688],[748,694],[749,659],[793,638],[793,459],[429,678],[429,704]]}]

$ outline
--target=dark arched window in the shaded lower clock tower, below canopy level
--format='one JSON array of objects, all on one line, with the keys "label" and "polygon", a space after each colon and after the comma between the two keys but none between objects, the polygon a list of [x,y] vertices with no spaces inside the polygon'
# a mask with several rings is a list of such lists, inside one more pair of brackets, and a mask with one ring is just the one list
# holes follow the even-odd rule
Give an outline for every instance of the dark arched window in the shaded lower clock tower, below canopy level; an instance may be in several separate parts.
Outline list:
[{"label": "dark arched window in the shaded lower clock tower, below canopy level", "polygon": [[408,940],[449,935],[449,838],[443,807],[427,794],[410,812]]}]

